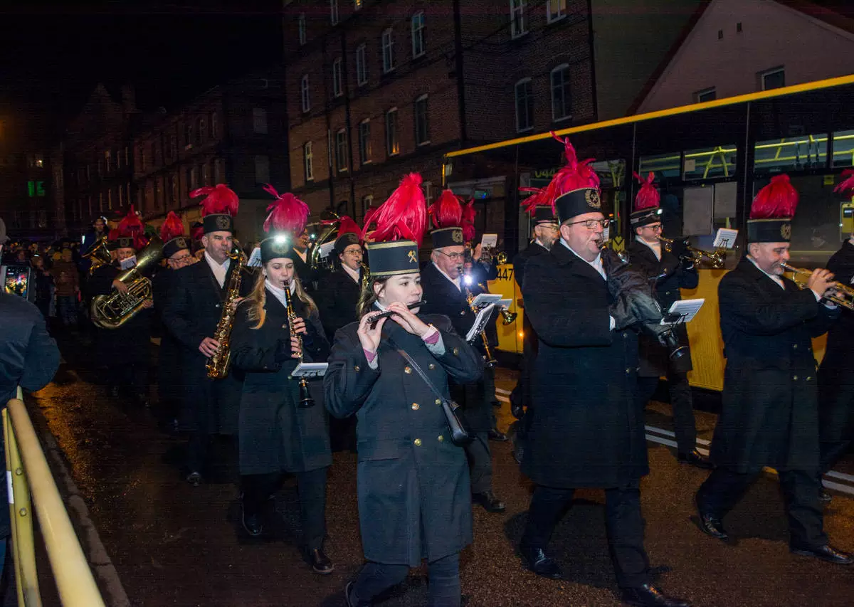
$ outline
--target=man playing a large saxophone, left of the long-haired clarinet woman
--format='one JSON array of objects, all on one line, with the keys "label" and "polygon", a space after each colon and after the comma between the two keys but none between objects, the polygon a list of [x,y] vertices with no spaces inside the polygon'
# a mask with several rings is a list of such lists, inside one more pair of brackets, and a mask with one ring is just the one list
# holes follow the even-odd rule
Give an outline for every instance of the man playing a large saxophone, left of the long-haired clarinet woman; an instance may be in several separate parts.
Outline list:
[{"label": "man playing a large saxophone, left of the long-haired clarinet woman", "polygon": [[[234,373],[211,379],[207,371],[208,359],[219,348],[214,333],[236,266],[230,255],[234,216],[240,201],[225,184],[190,192],[191,198],[198,196],[206,196],[202,201],[204,256],[200,263],[176,271],[173,290],[163,309],[163,322],[183,346],[182,375],[187,385],[182,422],[190,429],[186,479],[194,486],[202,482],[210,437],[234,435],[237,431],[241,390]],[[241,295],[249,289],[249,280],[243,277]]]}]

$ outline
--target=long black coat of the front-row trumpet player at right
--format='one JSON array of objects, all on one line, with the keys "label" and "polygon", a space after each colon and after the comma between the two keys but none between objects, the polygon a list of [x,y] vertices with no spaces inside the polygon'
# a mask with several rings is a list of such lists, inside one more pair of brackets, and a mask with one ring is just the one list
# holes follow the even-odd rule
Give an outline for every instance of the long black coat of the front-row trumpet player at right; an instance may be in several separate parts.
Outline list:
[{"label": "long black coat of the front-row trumpet player at right", "polygon": [[786,289],[745,258],[718,285],[727,367],[711,460],[728,470],[818,470],[810,338],[827,331],[839,311],[788,278],[783,283]]}]

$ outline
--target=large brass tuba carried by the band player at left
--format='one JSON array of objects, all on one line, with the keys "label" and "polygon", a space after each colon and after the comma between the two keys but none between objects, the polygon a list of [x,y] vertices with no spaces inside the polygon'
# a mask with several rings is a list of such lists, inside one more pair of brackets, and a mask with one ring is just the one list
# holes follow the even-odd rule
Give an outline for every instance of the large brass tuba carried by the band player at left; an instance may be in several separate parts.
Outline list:
[{"label": "large brass tuba carried by the band player at left", "polygon": [[151,299],[151,281],[143,276],[143,269],[154,266],[163,256],[163,241],[155,236],[149,246],[137,258],[137,265],[120,271],[115,277],[127,286],[127,293],[118,290],[109,295],[96,295],[92,298],[92,322],[101,329],[118,329],[137,312],[143,309],[143,302]]}]

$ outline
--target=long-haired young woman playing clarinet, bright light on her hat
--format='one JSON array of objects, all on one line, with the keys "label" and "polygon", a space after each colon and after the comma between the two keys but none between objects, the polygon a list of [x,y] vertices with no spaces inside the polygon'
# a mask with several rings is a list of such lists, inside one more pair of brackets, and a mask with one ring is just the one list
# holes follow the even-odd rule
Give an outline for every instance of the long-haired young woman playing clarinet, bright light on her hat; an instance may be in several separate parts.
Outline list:
[{"label": "long-haired young woman playing clarinet, bright light on her hat", "polygon": [[[300,406],[298,384],[290,379],[300,354],[305,362],[329,356],[317,306],[302,289],[291,248],[305,228],[308,207],[290,193],[279,196],[269,185],[266,190],[276,201],[264,223],[268,237],[260,243],[262,269],[237,309],[231,333],[231,363],[245,374],[238,425],[243,528],[249,535],[261,534],[267,499],[283,472],[294,473],[302,551],[315,573],[328,575],[335,567],[323,549],[326,469],[332,463],[326,411],[322,405]],[[285,289],[290,290],[293,321]]]}]

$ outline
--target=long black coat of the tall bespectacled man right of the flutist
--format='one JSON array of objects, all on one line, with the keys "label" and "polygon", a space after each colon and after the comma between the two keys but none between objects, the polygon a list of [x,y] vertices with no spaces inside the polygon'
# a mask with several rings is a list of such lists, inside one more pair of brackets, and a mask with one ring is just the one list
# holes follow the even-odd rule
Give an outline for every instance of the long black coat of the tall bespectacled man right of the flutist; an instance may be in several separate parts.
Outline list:
[{"label": "long black coat of the tall bespectacled man right of the flutist", "polygon": [[611,330],[605,279],[558,242],[528,261],[522,294],[540,339],[524,473],[565,488],[618,487],[646,475],[637,335]]}]

